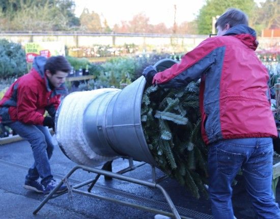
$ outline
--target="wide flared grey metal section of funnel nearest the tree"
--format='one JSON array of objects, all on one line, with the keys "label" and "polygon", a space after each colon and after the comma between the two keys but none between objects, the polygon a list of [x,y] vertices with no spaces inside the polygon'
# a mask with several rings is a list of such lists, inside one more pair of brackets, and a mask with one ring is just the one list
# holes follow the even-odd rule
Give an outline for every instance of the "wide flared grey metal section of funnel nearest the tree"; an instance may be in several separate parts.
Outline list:
[{"label": "wide flared grey metal section of funnel nearest the tree", "polygon": [[120,155],[155,165],[141,124],[141,102],[146,85],[139,77],[116,94],[106,110],[106,133],[110,146]]}]

